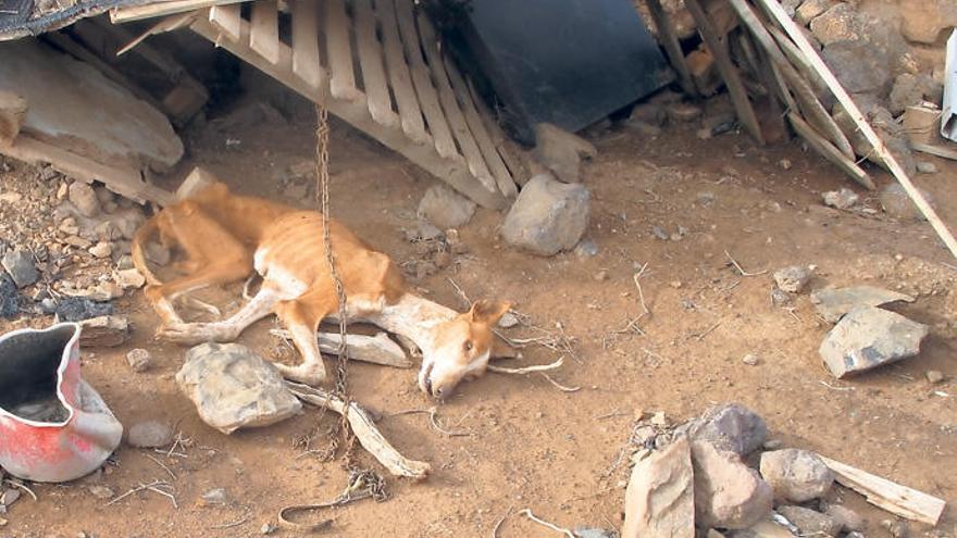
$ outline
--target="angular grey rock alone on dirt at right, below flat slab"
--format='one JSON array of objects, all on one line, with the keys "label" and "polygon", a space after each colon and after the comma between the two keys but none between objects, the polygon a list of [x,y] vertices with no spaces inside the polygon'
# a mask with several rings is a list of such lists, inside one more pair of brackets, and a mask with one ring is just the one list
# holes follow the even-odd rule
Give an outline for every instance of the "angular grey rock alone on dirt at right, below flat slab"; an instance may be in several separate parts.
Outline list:
[{"label": "angular grey rock alone on dirt at right, below flat slab", "polygon": [[845,315],[828,333],[819,350],[836,378],[857,374],[920,352],[927,325],[874,306]]}]

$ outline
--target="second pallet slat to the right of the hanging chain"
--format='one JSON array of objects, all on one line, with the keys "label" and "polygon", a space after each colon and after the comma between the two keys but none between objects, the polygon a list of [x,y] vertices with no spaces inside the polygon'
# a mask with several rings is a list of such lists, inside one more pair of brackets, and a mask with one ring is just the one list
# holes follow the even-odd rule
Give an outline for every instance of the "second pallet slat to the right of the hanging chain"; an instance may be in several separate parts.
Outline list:
[{"label": "second pallet slat to the right of the hanging chain", "polygon": [[372,118],[386,127],[398,127],[399,116],[393,111],[388,79],[382,58],[382,43],[375,35],[375,14],[371,0],[352,0],[356,20],[356,47],[359,49],[359,65],[362,68],[362,83],[369,113]]}]

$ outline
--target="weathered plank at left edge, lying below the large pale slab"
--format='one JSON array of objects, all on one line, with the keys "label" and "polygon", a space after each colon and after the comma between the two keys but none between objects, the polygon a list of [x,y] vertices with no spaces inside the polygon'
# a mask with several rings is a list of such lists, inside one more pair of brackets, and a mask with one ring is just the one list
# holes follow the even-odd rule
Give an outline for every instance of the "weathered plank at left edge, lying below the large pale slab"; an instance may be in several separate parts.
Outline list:
[{"label": "weathered plank at left edge, lying below the large pale slab", "polygon": [[175,201],[172,192],[144,182],[140,171],[134,167],[108,166],[28,135],[21,134],[0,152],[29,163],[50,163],[57,171],[85,183],[101,182],[108,189],[130,200],[160,205]]}]

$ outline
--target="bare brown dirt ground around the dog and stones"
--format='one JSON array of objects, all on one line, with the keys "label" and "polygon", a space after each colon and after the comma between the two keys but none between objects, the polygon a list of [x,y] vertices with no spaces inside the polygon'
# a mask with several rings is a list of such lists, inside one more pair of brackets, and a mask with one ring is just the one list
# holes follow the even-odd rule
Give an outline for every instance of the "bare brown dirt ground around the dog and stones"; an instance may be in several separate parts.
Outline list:
[{"label": "bare brown dirt ground around the dog and stones", "polygon": [[[211,121],[189,137],[189,158],[166,179],[174,185],[194,165],[203,165],[237,190],[310,205],[301,193],[294,200],[276,186],[289,164],[312,155],[312,118],[308,108],[297,110],[304,110],[297,121],[237,132]],[[509,329],[510,336],[564,334],[572,353],[554,378],[581,390],[561,391],[540,376],[486,375],[438,408],[442,424],[468,434],[449,437],[433,429],[426,414],[393,416],[434,404],[417,389],[413,370],[352,365],[353,397],[382,413],[386,437],[406,455],[430,462],[434,473],[420,484],[389,478],[387,502],[336,510],[331,534],[493,536],[510,514],[497,536],[557,536],[517,515],[526,508],[566,527],[618,528],[626,478],[621,455],[635,417],[663,411],[678,422],[731,401],[759,412],[771,438],[786,447],[816,450],[957,502],[954,260],[925,223],[822,207],[822,191],[848,182],[796,142],[759,149],[743,134],[698,140],[694,130],[669,126],[654,140],[610,130],[594,139],[600,154],[587,165],[585,182],[593,193],[587,237],[598,245],[597,255],[543,259],[517,252],[496,237],[501,215],[480,210],[460,230],[467,254],[433,275],[410,278],[423,293],[458,309],[465,304],[453,283],[473,300],[513,301],[527,324]],[[792,163],[790,170],[779,164],[782,159]],[[941,172],[918,183],[957,226],[957,165],[934,162]],[[338,123],[332,168],[334,216],[399,263],[415,261],[417,247],[403,229],[417,225],[415,208],[432,179]],[[880,208],[875,197],[861,195],[865,207]],[[662,240],[652,234],[655,226],[669,235],[679,227],[686,233]],[[725,252],[761,274],[741,276]],[[765,272],[790,264],[817,265],[811,288],[873,284],[918,295],[916,303],[898,310],[932,327],[920,355],[834,380],[817,352],[829,325],[817,318],[807,295],[796,297],[791,309],[771,304],[772,280]],[[643,266],[639,283],[651,314],[638,322],[641,331],[624,330],[642,313],[633,276]],[[239,287],[206,298],[233,311]],[[152,340],[156,317],[140,292],[117,306],[134,324],[133,337],[121,348],[85,350],[85,378],[125,425],[174,423],[191,442],[182,456],[124,445],[101,473],[73,484],[34,485],[39,500],[13,505],[0,536],[259,536],[282,506],[341,491],[340,462],[302,458],[296,442],[316,426],[324,430],[332,417],[316,425],[318,412],[307,410],[273,427],[232,436],[212,430],[176,387],[185,350]],[[262,322],[240,341],[272,355],[277,342],[268,334],[271,326]],[[142,374],[124,358],[137,347],[154,358]],[[743,362],[748,353],[759,358],[757,365]],[[515,364],[560,354],[533,346]],[[930,385],[929,370],[943,372],[945,381]],[[359,454],[360,462],[372,463]],[[170,479],[147,455],[175,474],[178,509],[150,492],[110,506],[90,493],[91,485],[119,495]],[[203,505],[200,498],[212,488],[225,488],[229,502]],[[887,513],[843,488],[832,496],[868,517],[868,536],[886,535],[880,522]],[[957,516],[948,510],[936,530],[918,525],[913,530],[954,536]]]}]

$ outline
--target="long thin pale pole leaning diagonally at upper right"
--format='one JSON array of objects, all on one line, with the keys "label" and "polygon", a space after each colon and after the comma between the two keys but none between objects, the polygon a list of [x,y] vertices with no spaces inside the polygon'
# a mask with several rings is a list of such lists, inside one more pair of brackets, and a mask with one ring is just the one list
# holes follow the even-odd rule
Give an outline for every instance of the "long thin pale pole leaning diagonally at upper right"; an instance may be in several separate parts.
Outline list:
[{"label": "long thin pale pole leaning diagonally at upper right", "polygon": [[881,137],[874,133],[874,129],[865,120],[863,114],[860,112],[860,109],[857,108],[857,104],[854,103],[854,100],[850,99],[850,96],[847,95],[847,91],[841,86],[841,83],[837,82],[837,78],[834,76],[834,73],[824,64],[824,61],[821,60],[821,57],[818,54],[818,51],[811,46],[808,41],[807,37],[797,27],[797,24],[787,16],[787,13],[784,12],[784,8],[778,3],[776,0],[755,0],[759,2],[761,5],[768,10],[769,13],[778,21],[778,24],[781,25],[782,28],[791,36],[791,39],[797,43],[797,47],[801,52],[807,55],[808,60],[811,62],[811,66],[821,78],[824,79],[824,83],[828,85],[828,88],[832,92],[834,92],[834,97],[837,98],[837,101],[844,107],[844,110],[850,115],[850,118],[854,120],[854,123],[857,125],[857,128],[863,134],[865,138],[871,143],[874,148],[874,153],[878,154],[881,159],[884,160],[884,163],[887,164],[887,167],[891,170],[891,173],[894,174],[894,177],[904,187],[904,190],[907,192],[907,196],[913,201],[917,205],[917,209],[927,217],[928,222],[931,223],[934,230],[940,236],[941,240],[944,241],[944,245],[947,246],[947,249],[950,250],[950,253],[954,254],[954,258],[957,258],[957,239],[954,238],[954,234],[947,229],[947,225],[944,224],[944,221],[937,216],[937,213],[931,208],[931,204],[923,198],[917,187],[913,186],[913,183],[907,176],[907,173],[904,168],[900,167],[900,164],[894,159],[894,155],[887,151],[887,147],[884,146],[884,141],[881,140]]}]

